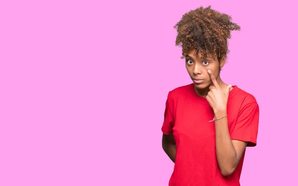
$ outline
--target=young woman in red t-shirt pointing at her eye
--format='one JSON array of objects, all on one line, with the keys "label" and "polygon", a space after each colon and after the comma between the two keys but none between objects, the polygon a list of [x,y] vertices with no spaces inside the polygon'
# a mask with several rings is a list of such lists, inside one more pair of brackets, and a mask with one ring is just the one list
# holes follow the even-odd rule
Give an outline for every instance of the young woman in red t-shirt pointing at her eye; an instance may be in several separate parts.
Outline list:
[{"label": "young woman in red t-shirt pointing at her eye", "polygon": [[230,31],[240,29],[230,19],[200,7],[174,27],[193,83],[166,100],[162,148],[175,163],[169,186],[240,186],[245,148],[256,146],[255,97],[220,77]]}]

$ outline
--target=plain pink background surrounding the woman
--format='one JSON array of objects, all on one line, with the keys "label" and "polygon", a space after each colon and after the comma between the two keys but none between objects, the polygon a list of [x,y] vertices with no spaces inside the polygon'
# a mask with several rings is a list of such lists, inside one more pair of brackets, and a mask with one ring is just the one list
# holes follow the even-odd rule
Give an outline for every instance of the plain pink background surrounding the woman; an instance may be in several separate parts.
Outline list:
[{"label": "plain pink background surrounding the woman", "polygon": [[242,28],[222,78],[260,105],[241,186],[298,186],[294,0],[2,0],[0,186],[166,186],[165,99],[191,83],[173,26],[209,4]]}]

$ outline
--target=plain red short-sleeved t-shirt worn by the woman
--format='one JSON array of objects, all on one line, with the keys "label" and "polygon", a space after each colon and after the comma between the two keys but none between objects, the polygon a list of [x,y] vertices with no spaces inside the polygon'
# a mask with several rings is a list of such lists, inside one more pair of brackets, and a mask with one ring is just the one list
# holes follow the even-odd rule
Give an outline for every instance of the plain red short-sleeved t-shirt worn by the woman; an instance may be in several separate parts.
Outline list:
[{"label": "plain red short-sleeved t-shirt worn by the woman", "polygon": [[[229,93],[227,121],[231,139],[256,146],[259,106],[251,94],[237,86]],[[222,176],[216,157],[213,109],[196,94],[194,84],[168,93],[162,132],[173,133],[176,160],[169,186],[240,186],[243,154],[233,174]]]}]

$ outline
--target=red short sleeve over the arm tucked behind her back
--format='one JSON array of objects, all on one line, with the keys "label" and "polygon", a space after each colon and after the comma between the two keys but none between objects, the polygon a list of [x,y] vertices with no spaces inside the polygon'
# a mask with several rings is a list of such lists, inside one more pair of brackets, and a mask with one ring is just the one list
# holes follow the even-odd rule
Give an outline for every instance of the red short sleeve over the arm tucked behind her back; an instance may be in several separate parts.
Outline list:
[{"label": "red short sleeve over the arm tucked behind her back", "polygon": [[173,100],[171,98],[171,92],[168,93],[166,102],[165,102],[165,110],[164,110],[164,120],[161,127],[161,131],[168,135],[173,133],[173,125],[174,125],[174,118],[173,118]]}]

